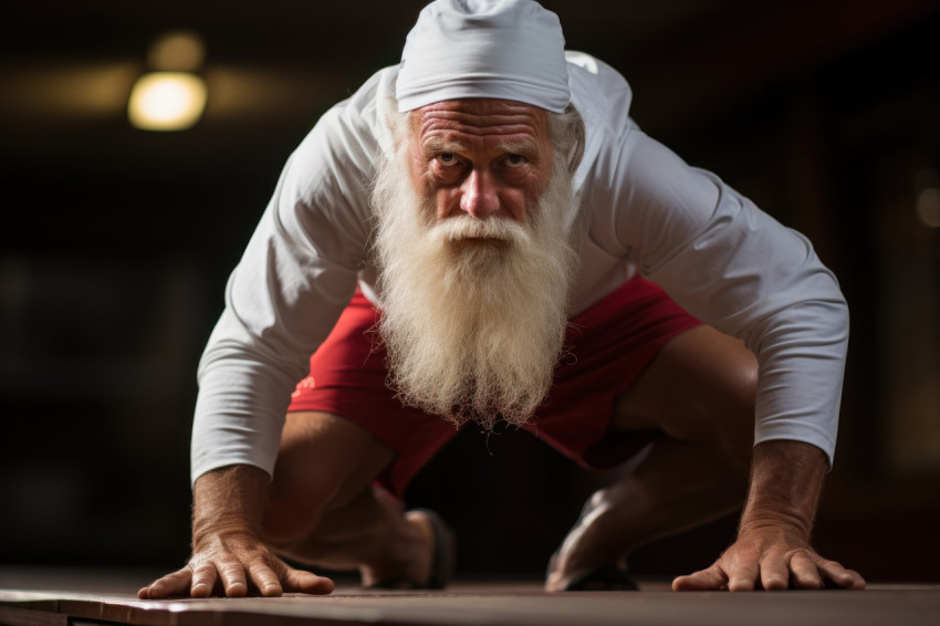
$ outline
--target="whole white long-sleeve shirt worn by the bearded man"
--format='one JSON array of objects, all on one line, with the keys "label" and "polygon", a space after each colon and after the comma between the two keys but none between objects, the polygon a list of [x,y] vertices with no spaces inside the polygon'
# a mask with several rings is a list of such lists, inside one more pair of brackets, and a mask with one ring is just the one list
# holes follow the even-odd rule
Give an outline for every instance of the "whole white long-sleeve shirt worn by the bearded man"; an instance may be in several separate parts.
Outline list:
[{"label": "whole white long-sleeve shirt worn by the bearded man", "polygon": [[[566,216],[583,232],[573,313],[641,273],[756,354],[755,444],[805,441],[832,461],[848,342],[833,274],[802,234],[645,135],[616,71],[575,52],[568,71],[586,127]],[[357,282],[380,304],[368,184],[390,146],[378,112],[396,76],[376,73],[288,160],[200,362],[194,481],[233,463],[272,472],[291,392]]]}]

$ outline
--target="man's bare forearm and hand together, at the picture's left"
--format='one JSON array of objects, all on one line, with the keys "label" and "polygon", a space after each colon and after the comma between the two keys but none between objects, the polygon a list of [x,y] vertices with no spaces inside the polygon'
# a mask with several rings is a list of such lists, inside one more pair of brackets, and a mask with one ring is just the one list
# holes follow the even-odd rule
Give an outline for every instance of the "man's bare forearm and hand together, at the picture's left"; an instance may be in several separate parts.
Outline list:
[{"label": "man's bare forearm and hand together, at the picture's left", "polygon": [[288,593],[328,594],[333,581],[294,570],[260,539],[268,474],[249,466],[206,473],[192,492],[192,556],[139,592],[142,599]]}]

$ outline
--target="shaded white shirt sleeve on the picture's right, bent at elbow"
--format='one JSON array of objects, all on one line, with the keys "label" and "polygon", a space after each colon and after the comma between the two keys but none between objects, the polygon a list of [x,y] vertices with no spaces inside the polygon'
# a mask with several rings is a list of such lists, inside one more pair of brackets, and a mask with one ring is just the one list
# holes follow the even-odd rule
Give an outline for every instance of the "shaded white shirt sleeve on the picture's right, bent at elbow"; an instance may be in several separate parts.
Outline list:
[{"label": "shaded white shirt sleeve on the picture's right, bent at elbow", "polygon": [[755,444],[805,441],[832,463],[848,343],[836,279],[805,237],[713,174],[636,127],[620,142],[602,171],[610,182],[594,197],[616,208],[592,230],[689,313],[758,356]]}]

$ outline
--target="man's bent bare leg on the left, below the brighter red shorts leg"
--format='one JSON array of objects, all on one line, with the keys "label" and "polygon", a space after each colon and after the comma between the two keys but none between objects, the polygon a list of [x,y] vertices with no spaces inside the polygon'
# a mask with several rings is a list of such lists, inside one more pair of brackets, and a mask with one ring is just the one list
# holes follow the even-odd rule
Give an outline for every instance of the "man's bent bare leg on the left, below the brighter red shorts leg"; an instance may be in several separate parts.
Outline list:
[{"label": "man's bent bare leg on the left, below the brighter red shorts leg", "polygon": [[341,417],[288,415],[264,515],[265,542],[299,561],[359,567],[363,583],[430,576],[434,539],[421,513],[373,487],[393,452]]}]

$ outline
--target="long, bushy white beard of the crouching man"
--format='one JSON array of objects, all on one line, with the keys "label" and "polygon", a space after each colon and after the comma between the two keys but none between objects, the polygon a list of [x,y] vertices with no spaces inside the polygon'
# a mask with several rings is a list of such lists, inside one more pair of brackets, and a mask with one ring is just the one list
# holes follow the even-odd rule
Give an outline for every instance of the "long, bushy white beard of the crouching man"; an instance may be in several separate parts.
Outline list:
[{"label": "long, bushy white beard of the crouching man", "polygon": [[564,345],[576,261],[564,225],[571,174],[556,159],[525,225],[469,215],[437,222],[403,157],[385,160],[373,191],[388,384],[456,425],[522,425],[547,395]]}]

